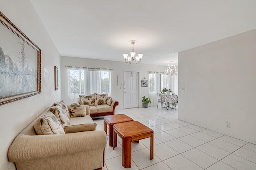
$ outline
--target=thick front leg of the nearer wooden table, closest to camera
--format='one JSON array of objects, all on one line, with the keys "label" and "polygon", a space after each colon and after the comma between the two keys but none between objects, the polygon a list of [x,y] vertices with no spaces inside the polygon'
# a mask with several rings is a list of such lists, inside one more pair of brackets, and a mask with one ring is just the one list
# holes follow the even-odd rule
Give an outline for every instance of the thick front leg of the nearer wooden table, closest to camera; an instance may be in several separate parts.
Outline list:
[{"label": "thick front leg of the nearer wooden table, closest to camera", "polygon": [[123,166],[124,168],[132,167],[132,139],[123,138]]}]

